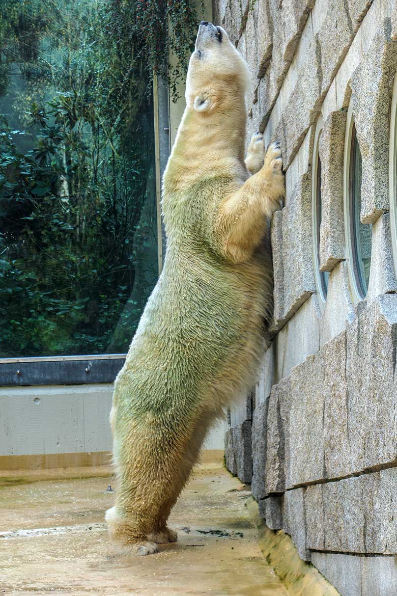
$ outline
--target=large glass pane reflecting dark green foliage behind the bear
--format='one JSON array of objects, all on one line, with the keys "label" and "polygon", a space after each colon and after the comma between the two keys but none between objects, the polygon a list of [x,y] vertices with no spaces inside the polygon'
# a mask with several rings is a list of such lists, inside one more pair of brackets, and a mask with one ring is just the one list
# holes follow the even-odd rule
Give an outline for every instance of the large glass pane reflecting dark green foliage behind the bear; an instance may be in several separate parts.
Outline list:
[{"label": "large glass pane reflecting dark green foliage behind the bear", "polygon": [[126,352],[157,281],[151,88],[111,5],[0,6],[0,357]]}]

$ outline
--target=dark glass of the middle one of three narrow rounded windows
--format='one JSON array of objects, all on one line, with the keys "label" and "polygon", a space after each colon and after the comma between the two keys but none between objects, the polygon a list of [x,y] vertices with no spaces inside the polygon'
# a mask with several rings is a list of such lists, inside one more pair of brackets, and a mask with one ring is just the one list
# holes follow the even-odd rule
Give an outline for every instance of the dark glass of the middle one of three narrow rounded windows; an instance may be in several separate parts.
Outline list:
[{"label": "dark glass of the middle one of three narrow rounded windows", "polygon": [[355,129],[352,136],[351,153],[351,223],[353,244],[353,268],[361,296],[367,294],[368,282],[370,280],[371,247],[372,247],[372,224],[362,224],[361,213],[361,175],[362,159],[360,145],[357,141]]}]

